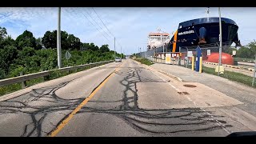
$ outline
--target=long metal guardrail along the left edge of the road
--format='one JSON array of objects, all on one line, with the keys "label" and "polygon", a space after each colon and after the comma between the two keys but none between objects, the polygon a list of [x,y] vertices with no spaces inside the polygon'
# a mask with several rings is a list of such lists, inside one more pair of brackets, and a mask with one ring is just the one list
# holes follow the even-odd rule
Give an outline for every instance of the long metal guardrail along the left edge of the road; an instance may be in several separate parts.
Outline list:
[{"label": "long metal guardrail along the left edge of the road", "polygon": [[[104,64],[107,64],[110,62],[114,62],[114,60],[89,63],[89,64],[79,65],[79,66],[69,66],[69,67],[63,67],[63,68],[56,69],[56,70],[46,70],[46,71],[42,71],[42,72],[38,72],[38,73],[34,73],[34,74],[26,74],[26,75],[14,77],[14,78],[6,78],[6,79],[0,80],[0,86],[7,86],[7,85],[18,83],[18,82],[26,82],[27,80],[34,79],[34,78],[45,77],[47,75],[50,75],[54,71],[62,72],[62,71],[69,71],[69,70],[78,70],[78,69],[84,68],[86,66],[100,66],[100,65],[104,65]],[[22,88],[23,88],[23,86],[22,86]]]}]

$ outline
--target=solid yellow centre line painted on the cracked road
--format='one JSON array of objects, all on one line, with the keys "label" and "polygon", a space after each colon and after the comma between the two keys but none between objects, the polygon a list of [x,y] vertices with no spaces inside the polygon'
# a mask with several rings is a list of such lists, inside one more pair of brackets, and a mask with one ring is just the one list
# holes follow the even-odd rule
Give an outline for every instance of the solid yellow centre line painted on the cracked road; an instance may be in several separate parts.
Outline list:
[{"label": "solid yellow centre line painted on the cracked road", "polygon": [[71,118],[74,117],[74,114],[77,114],[79,110],[81,110],[82,106],[85,106],[86,103],[88,101],[90,101],[91,98],[94,97],[94,94],[96,94],[98,92],[98,90],[100,90],[102,88],[102,86],[104,86],[106,84],[106,82],[114,75],[114,72],[118,71],[118,68],[121,66],[122,64],[120,64],[109,76],[106,77],[106,79],[89,95],[89,97],[87,97],[85,100],[82,101],[82,103],[79,104],[78,107],[76,107],[67,118],[65,118],[57,127],[54,131],[52,131],[48,136],[49,137],[54,137],[56,136],[60,130],[62,130],[64,128],[64,126],[66,126],[66,124],[68,122],[70,122]]}]

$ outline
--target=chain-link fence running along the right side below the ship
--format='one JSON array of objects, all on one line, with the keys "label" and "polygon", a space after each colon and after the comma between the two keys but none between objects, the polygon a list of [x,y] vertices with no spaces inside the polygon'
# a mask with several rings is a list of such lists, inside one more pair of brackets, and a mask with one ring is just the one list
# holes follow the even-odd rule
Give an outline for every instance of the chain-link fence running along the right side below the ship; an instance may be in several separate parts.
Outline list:
[{"label": "chain-link fence running along the right side below the ship", "polygon": [[[170,51],[167,51],[166,48],[163,50],[162,47],[159,47],[154,50],[140,52],[136,55],[142,58],[147,58],[155,63],[166,63],[191,69],[192,57],[194,57],[194,66],[196,63],[196,48],[197,46],[179,47],[180,53],[172,53]],[[249,77],[253,77],[252,81],[250,82],[252,82],[252,85],[255,85],[256,46],[250,45],[234,47],[228,46],[228,44],[224,44],[222,46],[221,57],[219,57],[218,44],[214,46],[202,46],[200,47],[200,49],[202,50],[202,67],[204,69],[211,68],[214,69],[214,71],[216,72],[216,69],[218,68],[218,63],[220,62],[221,68],[218,72],[221,72],[223,68],[224,71],[231,71],[234,73],[240,73]],[[166,61],[166,54],[171,55],[170,62]],[[221,61],[219,61],[220,58]],[[215,74],[217,74],[217,72]]]}]

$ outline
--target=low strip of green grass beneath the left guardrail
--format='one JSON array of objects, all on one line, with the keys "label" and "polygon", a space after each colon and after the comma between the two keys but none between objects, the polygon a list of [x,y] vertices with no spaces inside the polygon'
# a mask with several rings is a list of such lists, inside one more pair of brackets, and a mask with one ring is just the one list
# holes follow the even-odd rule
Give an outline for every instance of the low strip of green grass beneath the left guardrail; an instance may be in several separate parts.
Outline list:
[{"label": "low strip of green grass beneath the left guardrail", "polygon": [[[50,81],[50,80],[55,79],[55,78],[61,78],[61,77],[64,77],[68,74],[74,74],[76,72],[79,72],[79,71],[82,71],[82,70],[87,70],[87,69],[90,69],[90,66],[80,68],[77,71],[70,70],[70,72],[68,72],[68,71],[61,72],[59,70],[55,70],[53,73],[51,73],[50,75],[48,75],[46,77],[34,78],[34,79],[26,81],[26,86],[33,86],[33,85],[41,83],[41,82],[47,82],[47,81]],[[2,86],[2,87],[0,87],[0,96],[2,96],[4,94],[10,94],[10,93],[12,93],[14,91],[17,91],[17,90],[22,90],[21,83],[15,83],[15,84],[11,84],[11,85],[8,85],[8,86]]]}]

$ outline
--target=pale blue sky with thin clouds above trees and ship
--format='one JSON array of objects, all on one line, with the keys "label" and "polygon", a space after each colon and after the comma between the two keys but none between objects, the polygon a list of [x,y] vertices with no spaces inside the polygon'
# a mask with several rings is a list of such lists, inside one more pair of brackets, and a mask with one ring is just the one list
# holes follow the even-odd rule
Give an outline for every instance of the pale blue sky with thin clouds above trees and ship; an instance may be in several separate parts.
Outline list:
[{"label": "pale blue sky with thin clouds above trees and ship", "polygon": [[[95,10],[95,11],[94,11]],[[98,15],[97,15],[98,14]],[[256,7],[222,7],[222,18],[230,18],[239,26],[238,38],[242,45],[256,39]],[[218,17],[218,7],[210,7],[210,17]],[[125,54],[146,50],[147,36],[162,31],[172,33],[180,22],[205,18],[206,7],[62,7],[61,30],[80,38],[81,42],[108,44]],[[104,26],[104,25],[105,26]],[[47,30],[57,30],[57,7],[2,7],[0,26],[17,38],[29,30],[35,38],[42,38]]]}]

